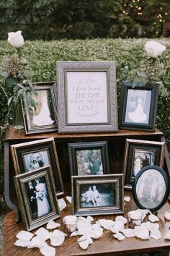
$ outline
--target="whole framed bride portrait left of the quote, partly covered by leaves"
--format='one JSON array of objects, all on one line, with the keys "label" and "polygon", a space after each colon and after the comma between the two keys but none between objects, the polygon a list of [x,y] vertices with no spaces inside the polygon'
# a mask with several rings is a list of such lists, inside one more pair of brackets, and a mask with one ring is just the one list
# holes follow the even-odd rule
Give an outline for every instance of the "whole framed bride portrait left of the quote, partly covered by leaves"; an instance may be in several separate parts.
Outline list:
[{"label": "whole framed bride portrait left of the quote, partly covered by leaves", "polygon": [[26,135],[57,131],[57,106],[55,82],[36,82],[32,95],[35,108],[24,111],[26,103],[22,104],[24,112],[24,131]]}]

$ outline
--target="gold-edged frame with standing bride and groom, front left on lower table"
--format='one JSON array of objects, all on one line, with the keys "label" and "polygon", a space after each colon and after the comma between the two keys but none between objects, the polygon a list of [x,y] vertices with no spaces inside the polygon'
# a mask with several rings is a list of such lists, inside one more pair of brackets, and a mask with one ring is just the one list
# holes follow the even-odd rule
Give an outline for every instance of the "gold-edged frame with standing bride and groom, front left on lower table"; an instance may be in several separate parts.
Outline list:
[{"label": "gold-edged frame with standing bride and groom, front left on lower table", "polygon": [[14,185],[27,231],[60,217],[50,166],[14,176]]}]

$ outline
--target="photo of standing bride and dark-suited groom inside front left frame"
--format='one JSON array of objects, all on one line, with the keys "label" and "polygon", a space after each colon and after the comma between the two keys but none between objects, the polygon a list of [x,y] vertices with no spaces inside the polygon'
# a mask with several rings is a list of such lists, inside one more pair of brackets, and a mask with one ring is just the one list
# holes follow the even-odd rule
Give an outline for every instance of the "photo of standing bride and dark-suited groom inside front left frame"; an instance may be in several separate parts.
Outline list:
[{"label": "photo of standing bride and dark-suited groom inside front left frame", "polygon": [[27,182],[26,189],[32,218],[39,218],[50,213],[51,208],[45,179],[41,177]]}]

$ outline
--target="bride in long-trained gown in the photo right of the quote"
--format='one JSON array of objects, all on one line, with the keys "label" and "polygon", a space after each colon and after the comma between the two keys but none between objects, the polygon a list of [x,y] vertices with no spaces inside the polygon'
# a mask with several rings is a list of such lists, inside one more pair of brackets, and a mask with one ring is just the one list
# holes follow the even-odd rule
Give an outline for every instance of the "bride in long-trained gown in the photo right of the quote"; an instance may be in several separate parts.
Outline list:
[{"label": "bride in long-trained gown in the photo right of the quote", "polygon": [[130,112],[128,114],[130,120],[134,121],[135,123],[143,123],[147,121],[147,115],[143,112],[143,100],[142,98],[138,98],[138,103],[135,108],[135,111]]}]

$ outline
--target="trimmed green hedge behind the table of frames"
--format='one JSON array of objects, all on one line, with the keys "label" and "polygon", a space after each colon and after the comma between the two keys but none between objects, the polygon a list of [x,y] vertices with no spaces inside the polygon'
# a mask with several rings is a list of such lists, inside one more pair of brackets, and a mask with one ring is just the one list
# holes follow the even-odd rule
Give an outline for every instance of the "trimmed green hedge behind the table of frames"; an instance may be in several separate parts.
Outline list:
[{"label": "trimmed green hedge behind the table of frames", "polygon": [[[144,43],[148,39],[94,39],[94,40],[27,40],[22,48],[22,55],[29,61],[29,68],[34,72],[32,82],[52,81],[56,79],[56,61],[116,61],[117,65],[117,95],[120,98],[122,69],[129,70],[139,67],[140,60],[146,58]],[[166,67],[164,85],[170,92],[170,39],[159,39],[166,46],[166,51],[160,59]],[[0,56],[13,54],[16,51],[6,41],[0,41]],[[170,152],[170,100],[164,92],[158,99],[158,114],[156,127],[166,135]],[[3,124],[6,114],[6,98],[0,91],[0,122]],[[119,106],[119,101],[118,101]],[[3,157],[0,158],[0,195],[4,193]]]}]

